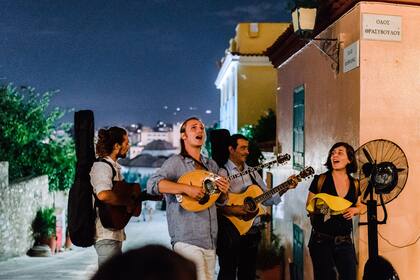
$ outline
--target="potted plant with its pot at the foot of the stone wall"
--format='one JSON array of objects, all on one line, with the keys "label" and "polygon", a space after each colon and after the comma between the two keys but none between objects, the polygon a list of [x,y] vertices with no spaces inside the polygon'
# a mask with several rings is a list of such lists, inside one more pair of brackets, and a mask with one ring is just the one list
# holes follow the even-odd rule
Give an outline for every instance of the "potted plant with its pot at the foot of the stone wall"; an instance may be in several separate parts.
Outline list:
[{"label": "potted plant with its pot at the foot of the stone wall", "polygon": [[[35,219],[32,222],[32,232],[35,240],[28,255],[30,256],[50,256],[54,254],[56,247],[56,216],[55,209],[52,207],[42,208],[36,212]],[[45,252],[45,246],[48,245],[49,252]]]}]

